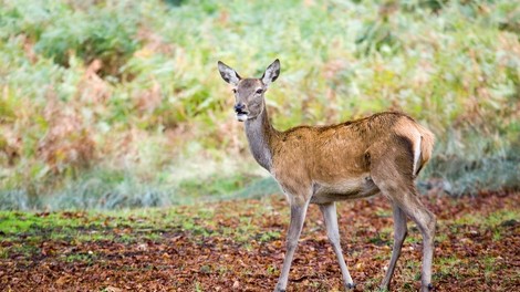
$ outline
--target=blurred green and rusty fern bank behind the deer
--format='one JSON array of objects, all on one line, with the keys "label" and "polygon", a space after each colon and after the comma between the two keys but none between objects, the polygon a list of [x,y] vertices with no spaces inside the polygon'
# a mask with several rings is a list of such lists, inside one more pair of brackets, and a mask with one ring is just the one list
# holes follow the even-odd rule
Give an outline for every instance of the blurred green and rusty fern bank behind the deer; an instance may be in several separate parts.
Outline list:
[{"label": "blurred green and rusty fern bank behind the deer", "polygon": [[516,1],[3,0],[0,208],[119,208],[275,191],[218,60],[260,76],[273,124],[385,109],[437,135],[420,177],[520,186]]}]

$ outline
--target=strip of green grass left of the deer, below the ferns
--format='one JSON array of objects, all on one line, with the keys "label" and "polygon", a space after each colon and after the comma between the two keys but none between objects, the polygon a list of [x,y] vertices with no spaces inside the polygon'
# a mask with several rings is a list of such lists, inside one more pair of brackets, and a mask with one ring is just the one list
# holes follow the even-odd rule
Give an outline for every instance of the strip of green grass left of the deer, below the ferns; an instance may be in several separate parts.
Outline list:
[{"label": "strip of green grass left of the deer, below the ferns", "polygon": [[[251,212],[252,206],[242,207],[245,210],[241,212]],[[235,241],[247,246],[251,240],[269,242],[281,238],[281,230],[261,232],[257,225],[259,220],[263,220],[262,216],[269,210],[269,206],[263,206],[252,215],[237,217],[238,227],[219,223],[215,218],[227,218],[228,215],[216,213],[215,208],[202,205],[103,212],[0,211],[0,233],[2,241],[25,242],[38,247],[39,242],[46,240],[115,241],[125,244],[143,240],[157,242],[164,238],[164,232],[183,230],[199,239],[219,234],[231,237]],[[2,250],[1,253],[6,252],[8,251]]]}]

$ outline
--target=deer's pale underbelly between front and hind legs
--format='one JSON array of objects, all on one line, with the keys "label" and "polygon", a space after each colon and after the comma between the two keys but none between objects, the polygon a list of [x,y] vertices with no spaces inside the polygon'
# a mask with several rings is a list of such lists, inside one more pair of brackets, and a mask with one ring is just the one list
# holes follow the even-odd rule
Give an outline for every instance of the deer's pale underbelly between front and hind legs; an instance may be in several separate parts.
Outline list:
[{"label": "deer's pale underbelly between front and hind legs", "polygon": [[379,189],[370,176],[350,178],[334,184],[315,182],[311,198],[311,202],[313,204],[353,200],[371,197],[379,192]]}]

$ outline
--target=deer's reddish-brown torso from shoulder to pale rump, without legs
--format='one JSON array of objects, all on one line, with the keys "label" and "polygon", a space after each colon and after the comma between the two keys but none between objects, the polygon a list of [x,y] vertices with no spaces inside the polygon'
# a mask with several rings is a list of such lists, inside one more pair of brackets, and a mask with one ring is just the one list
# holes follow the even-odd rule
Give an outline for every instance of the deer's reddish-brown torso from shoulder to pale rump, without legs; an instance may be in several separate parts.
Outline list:
[{"label": "deer's reddish-brown torso from shoulder to pale rump, without legs", "polygon": [[312,184],[316,188],[314,192],[321,189],[331,196],[373,195],[371,164],[385,155],[405,157],[399,160],[403,164],[399,167],[414,177],[414,161],[420,158],[416,161],[420,169],[433,147],[429,131],[396,112],[331,126],[300,126],[279,135],[278,145],[273,145],[271,173],[282,187],[298,192],[300,186]]}]

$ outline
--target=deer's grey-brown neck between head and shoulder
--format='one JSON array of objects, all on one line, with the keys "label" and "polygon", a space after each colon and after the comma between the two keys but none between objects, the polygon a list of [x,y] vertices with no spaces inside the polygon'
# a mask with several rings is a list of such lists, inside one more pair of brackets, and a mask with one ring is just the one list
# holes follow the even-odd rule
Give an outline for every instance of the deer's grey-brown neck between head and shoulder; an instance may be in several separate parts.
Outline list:
[{"label": "deer's grey-brown neck between head and shoulder", "polygon": [[266,105],[263,105],[263,111],[259,116],[246,121],[246,135],[252,156],[261,167],[270,171],[272,166],[272,145],[277,138],[277,131],[269,121]]}]

